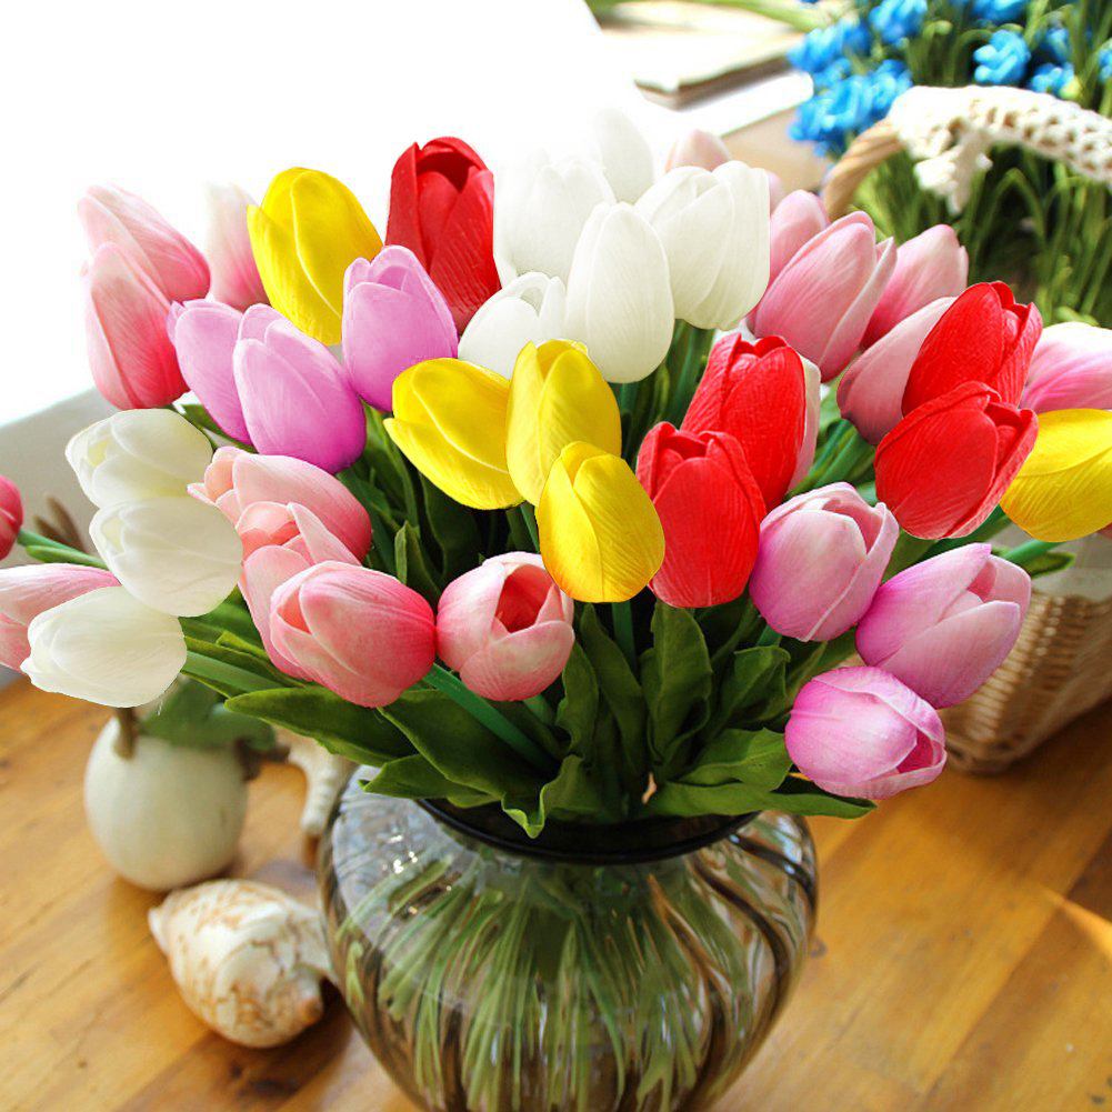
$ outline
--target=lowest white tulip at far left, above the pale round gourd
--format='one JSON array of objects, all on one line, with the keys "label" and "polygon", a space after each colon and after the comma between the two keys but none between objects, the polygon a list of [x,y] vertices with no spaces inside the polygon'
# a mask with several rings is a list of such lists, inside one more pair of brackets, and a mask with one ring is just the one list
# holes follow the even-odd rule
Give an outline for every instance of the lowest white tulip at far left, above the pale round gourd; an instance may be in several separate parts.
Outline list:
[{"label": "lowest white tulip at far left, above the pale round gourd", "polygon": [[105,706],[158,698],[186,663],[178,622],[123,587],[101,587],[43,610],[27,628],[23,671],[36,687]]}]

